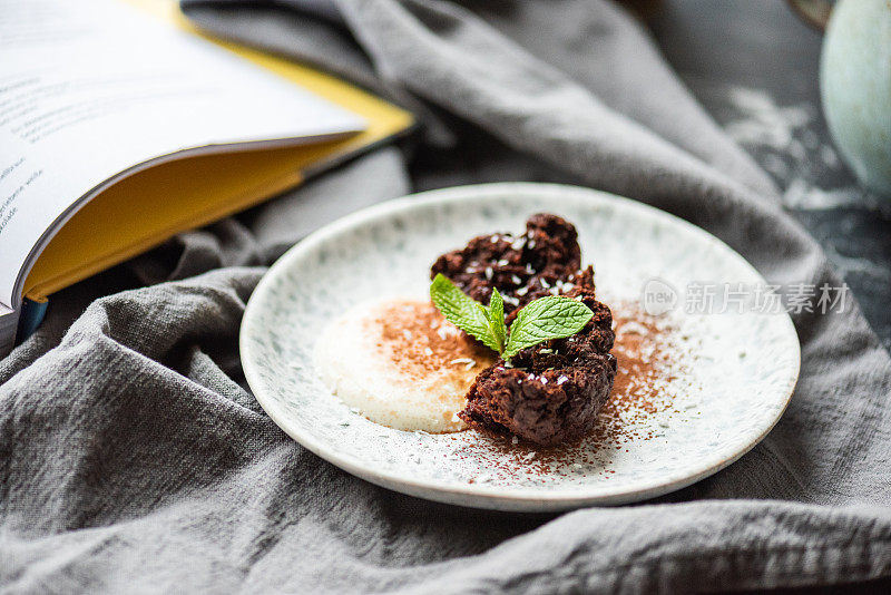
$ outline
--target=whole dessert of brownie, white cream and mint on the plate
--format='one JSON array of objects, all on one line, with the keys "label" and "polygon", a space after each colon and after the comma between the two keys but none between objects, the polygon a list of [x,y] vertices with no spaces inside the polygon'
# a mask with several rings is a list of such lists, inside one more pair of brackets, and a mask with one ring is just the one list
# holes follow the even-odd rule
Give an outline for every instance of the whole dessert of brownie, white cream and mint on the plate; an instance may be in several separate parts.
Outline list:
[{"label": "whole dessert of brownie, white cream and mint on the plate", "polygon": [[403,430],[469,426],[541,446],[590,431],[615,334],[569,222],[533,215],[522,235],[474,237],[430,273],[432,305],[361,306],[324,333],[316,362],[335,394]]}]

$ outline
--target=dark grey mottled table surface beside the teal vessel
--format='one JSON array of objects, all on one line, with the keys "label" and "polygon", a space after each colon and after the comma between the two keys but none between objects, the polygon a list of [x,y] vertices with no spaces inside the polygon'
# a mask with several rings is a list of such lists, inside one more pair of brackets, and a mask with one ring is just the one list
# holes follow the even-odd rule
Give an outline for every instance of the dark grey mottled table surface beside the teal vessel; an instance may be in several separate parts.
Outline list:
[{"label": "dark grey mottled table surface beside the teal vessel", "polygon": [[832,146],[822,35],[780,0],[666,0],[649,26],[706,109],[774,177],[891,350],[891,198],[859,187]]}]

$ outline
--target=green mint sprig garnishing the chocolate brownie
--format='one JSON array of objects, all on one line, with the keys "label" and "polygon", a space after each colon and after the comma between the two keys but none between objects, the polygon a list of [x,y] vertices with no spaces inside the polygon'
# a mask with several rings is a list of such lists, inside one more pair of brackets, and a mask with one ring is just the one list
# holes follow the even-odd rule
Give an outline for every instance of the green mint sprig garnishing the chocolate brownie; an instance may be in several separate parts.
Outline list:
[{"label": "green mint sprig garnishing the chocolate brownie", "polygon": [[571,336],[594,316],[591,309],[581,302],[550,295],[520,309],[508,332],[505,301],[497,289],[492,287],[492,298],[486,308],[442,274],[433,279],[430,299],[446,320],[506,359],[550,339]]}]

